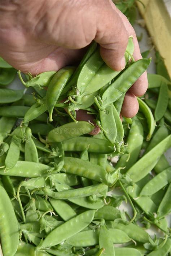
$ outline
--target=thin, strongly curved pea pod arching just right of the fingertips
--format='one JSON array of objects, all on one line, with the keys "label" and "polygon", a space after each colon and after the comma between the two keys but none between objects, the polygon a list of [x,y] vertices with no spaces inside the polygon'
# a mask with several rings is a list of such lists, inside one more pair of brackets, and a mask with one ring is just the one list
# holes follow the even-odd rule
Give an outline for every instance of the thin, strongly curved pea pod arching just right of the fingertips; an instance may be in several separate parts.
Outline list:
[{"label": "thin, strongly curved pea pod arching just right of the fingertips", "polygon": [[148,105],[146,105],[146,103],[143,100],[141,100],[139,97],[137,97],[137,100],[139,103],[140,111],[144,114],[148,123],[149,133],[146,137],[146,140],[149,141],[155,129],[155,120],[154,120],[152,111],[150,110]]}]

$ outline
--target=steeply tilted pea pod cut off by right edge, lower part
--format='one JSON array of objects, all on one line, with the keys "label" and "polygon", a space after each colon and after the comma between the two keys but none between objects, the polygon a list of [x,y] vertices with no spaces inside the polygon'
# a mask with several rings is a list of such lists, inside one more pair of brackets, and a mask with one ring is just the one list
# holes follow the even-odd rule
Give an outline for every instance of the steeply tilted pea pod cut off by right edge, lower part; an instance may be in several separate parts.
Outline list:
[{"label": "steeply tilted pea pod cut off by right edge, lower part", "polygon": [[166,216],[171,212],[171,183],[169,184],[167,191],[158,207],[157,215],[159,218]]}]

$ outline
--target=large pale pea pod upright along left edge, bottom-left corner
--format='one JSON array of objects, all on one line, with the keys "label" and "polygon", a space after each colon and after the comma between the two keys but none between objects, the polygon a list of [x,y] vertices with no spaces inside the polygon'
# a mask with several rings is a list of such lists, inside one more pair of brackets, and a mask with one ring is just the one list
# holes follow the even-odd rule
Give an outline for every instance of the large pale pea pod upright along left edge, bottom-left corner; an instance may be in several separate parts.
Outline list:
[{"label": "large pale pea pod upright along left edge, bottom-left corner", "polygon": [[2,186],[0,186],[0,239],[3,255],[14,255],[19,242],[18,221],[10,198]]}]

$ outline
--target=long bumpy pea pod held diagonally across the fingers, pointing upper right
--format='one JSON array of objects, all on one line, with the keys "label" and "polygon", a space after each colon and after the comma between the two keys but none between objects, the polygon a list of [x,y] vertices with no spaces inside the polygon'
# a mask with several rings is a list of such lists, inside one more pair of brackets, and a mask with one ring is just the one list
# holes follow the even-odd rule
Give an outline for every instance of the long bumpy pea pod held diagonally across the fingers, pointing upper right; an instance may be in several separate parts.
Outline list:
[{"label": "long bumpy pea pod held diagonally across the fingers, pointing upper right", "polygon": [[102,94],[102,101],[104,105],[114,103],[118,100],[133,83],[144,73],[150,65],[151,58],[141,59],[133,62]]}]

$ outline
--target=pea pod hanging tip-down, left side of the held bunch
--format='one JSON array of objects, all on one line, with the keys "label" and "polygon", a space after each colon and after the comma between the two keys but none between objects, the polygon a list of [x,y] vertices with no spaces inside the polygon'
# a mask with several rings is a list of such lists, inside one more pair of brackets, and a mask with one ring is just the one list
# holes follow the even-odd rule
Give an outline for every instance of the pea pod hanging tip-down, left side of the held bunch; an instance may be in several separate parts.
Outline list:
[{"label": "pea pod hanging tip-down, left side of the held bunch", "polygon": [[55,104],[65,87],[67,81],[74,73],[74,68],[63,68],[56,72],[51,82],[49,83],[48,90],[46,93],[46,105],[49,112],[49,121],[52,122],[52,114]]}]

